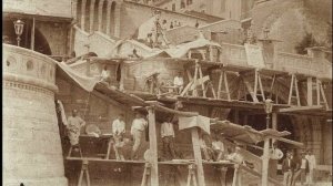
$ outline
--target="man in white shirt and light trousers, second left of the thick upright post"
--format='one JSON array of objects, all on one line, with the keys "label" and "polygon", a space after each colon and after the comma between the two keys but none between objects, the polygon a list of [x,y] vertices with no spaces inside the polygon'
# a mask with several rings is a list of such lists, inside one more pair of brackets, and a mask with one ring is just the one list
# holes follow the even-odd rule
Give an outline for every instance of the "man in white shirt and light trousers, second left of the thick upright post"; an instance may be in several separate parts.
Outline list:
[{"label": "man in white shirt and light trousers, second left of the thick upright post", "polygon": [[112,135],[114,138],[113,149],[117,161],[124,161],[122,153],[123,147],[123,134],[125,132],[124,115],[119,114],[118,118],[112,123]]}]

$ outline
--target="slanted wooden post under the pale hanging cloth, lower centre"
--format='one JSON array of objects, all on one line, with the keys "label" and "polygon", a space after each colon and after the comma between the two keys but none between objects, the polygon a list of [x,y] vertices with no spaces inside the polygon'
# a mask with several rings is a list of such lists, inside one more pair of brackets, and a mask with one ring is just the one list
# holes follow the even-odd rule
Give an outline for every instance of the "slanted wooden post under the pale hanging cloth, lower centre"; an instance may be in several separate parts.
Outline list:
[{"label": "slanted wooden post under the pale hanging cloth, lower centre", "polygon": [[198,185],[205,186],[198,130],[198,127],[191,128],[192,145],[194,152],[194,161],[196,164]]}]

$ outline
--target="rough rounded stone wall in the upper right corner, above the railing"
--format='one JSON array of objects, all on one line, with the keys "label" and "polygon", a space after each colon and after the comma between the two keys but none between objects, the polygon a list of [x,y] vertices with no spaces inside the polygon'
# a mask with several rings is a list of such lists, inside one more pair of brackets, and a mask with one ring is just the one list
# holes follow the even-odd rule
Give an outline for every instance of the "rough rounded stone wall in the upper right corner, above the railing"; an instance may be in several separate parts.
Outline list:
[{"label": "rough rounded stone wall in the upper right corner, above the railing", "polygon": [[[314,2],[312,2],[313,4]],[[271,0],[258,3],[252,9],[253,28],[258,38],[263,37],[263,29],[270,29],[270,38],[282,40],[278,50],[295,53],[306,33],[312,33],[316,41],[326,40],[329,29],[326,17],[316,13],[303,0]],[[326,9],[324,11],[326,12]],[[324,31],[323,31],[324,30]]]}]

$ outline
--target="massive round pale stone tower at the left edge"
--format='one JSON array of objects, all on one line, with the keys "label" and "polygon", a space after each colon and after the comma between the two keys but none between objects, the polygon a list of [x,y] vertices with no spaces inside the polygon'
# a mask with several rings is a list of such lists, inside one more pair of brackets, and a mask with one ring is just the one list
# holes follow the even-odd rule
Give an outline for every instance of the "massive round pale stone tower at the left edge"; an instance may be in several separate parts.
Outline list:
[{"label": "massive round pale stone tower at the left edge", "polygon": [[3,44],[3,185],[64,186],[56,62]]}]

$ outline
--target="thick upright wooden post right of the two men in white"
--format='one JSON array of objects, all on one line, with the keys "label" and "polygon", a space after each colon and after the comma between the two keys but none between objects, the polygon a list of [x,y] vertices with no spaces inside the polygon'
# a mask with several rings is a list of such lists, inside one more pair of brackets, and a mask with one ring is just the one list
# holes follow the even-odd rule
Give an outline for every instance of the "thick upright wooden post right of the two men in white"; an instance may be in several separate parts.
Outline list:
[{"label": "thick upright wooden post right of the two men in white", "polygon": [[158,137],[157,137],[157,125],[155,125],[155,111],[152,106],[148,107],[148,123],[149,123],[149,151],[151,153],[150,184],[153,186],[159,186]]}]

